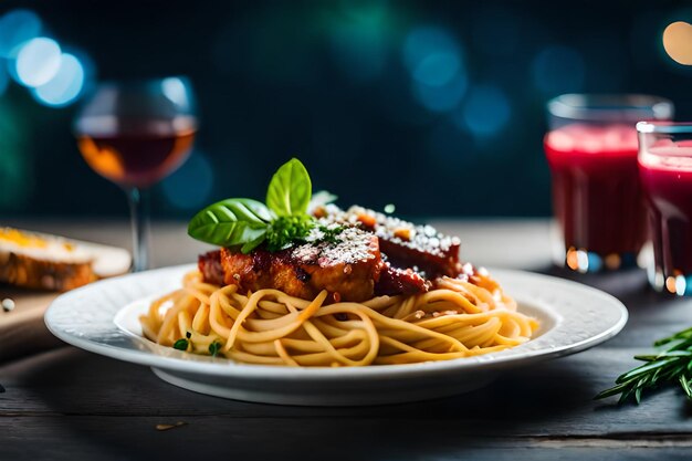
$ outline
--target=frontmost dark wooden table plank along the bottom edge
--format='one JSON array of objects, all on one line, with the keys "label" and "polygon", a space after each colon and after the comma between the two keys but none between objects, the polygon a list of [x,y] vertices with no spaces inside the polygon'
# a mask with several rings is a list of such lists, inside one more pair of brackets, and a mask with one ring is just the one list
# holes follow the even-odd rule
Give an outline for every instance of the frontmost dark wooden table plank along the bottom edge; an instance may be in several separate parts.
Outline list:
[{"label": "frontmost dark wooden table plank along the bottom edge", "polygon": [[[689,459],[689,436],[474,437],[457,425],[387,419],[282,420],[188,417],[157,431],[161,417],[11,418],[3,459],[160,460],[623,460]],[[19,429],[21,428],[21,429]],[[22,444],[11,443],[21,439]],[[686,457],[686,458],[685,458]]]}]

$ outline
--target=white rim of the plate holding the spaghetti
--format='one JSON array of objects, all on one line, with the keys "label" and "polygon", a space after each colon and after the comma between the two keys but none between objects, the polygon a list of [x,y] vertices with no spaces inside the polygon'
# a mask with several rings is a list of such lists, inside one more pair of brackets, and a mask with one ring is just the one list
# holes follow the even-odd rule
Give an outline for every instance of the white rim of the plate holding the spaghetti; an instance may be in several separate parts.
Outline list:
[{"label": "white rim of the plate holding the spaghetti", "polygon": [[[197,356],[185,352],[178,352],[168,347],[155,345],[156,347],[160,347],[162,350],[166,350],[167,356],[157,355],[150,350],[140,350],[140,349],[130,349],[118,347],[109,344],[97,343],[95,340],[88,338],[82,338],[80,336],[70,334],[69,332],[63,331],[54,324],[53,317],[55,313],[65,308],[63,305],[67,304],[67,302],[76,298],[84,293],[88,293],[91,291],[96,292],[99,287],[105,286],[105,284],[113,283],[126,283],[130,277],[138,277],[144,274],[148,274],[147,276],[164,276],[169,273],[169,276],[172,276],[174,273],[182,274],[185,271],[189,271],[196,268],[196,264],[181,264],[174,266],[166,266],[155,270],[149,270],[139,273],[130,273],[113,279],[107,279],[103,281],[95,282],[93,284],[73,290],[71,292],[64,293],[55,298],[44,314],[44,322],[48,329],[62,339],[63,342],[71,344],[75,347],[82,348],[84,350],[88,350],[95,354],[99,354],[106,357],[116,358],[124,362],[129,362],[138,365],[145,365],[149,367],[162,368],[175,370],[179,373],[191,373],[191,374],[201,374],[209,376],[220,376],[226,378],[233,378],[239,380],[245,379],[270,379],[270,380],[359,380],[359,379],[399,379],[399,378],[413,378],[421,376],[433,376],[433,375],[444,375],[449,373],[462,373],[464,370],[471,369],[496,369],[496,368],[512,368],[514,366],[520,365],[528,365],[537,362],[543,362],[547,359],[558,358],[566,355],[576,354],[594,347],[598,344],[601,344],[615,335],[617,335],[627,324],[629,314],[627,307],[620,302],[617,297],[600,291],[598,289],[585,285],[579,282],[575,282],[572,280],[565,280],[560,277],[556,277],[553,275],[545,275],[541,273],[535,273],[531,271],[522,271],[522,270],[513,270],[513,269],[495,269],[489,268],[489,272],[493,275],[494,279],[499,280],[501,283],[503,279],[507,277],[527,277],[527,279],[542,279],[547,281],[548,284],[553,285],[562,285],[563,287],[567,287],[567,290],[574,291],[575,293],[588,293],[591,296],[596,296],[600,298],[605,303],[609,304],[610,307],[617,308],[619,317],[616,323],[601,331],[600,333],[583,338],[580,340],[576,340],[570,344],[552,346],[548,348],[541,348],[536,350],[525,350],[522,354],[511,354],[511,355],[502,355],[503,352],[500,353],[491,353],[482,356],[474,357],[465,357],[465,358],[457,358],[450,360],[439,360],[439,362],[426,362],[418,364],[402,364],[402,365],[378,365],[378,366],[369,366],[369,367],[282,367],[282,366],[272,366],[272,365],[254,365],[254,364],[241,364],[235,363],[227,358],[212,358],[206,356]],[[150,292],[149,295],[155,294],[155,292]],[[513,295],[510,293],[510,295]],[[136,300],[130,300],[126,304],[123,304],[120,308],[118,308],[109,318],[109,322],[117,329],[117,332],[122,335],[132,334],[127,332],[123,332],[119,327],[117,327],[114,323],[115,317],[122,311],[123,307],[135,302]],[[555,315],[556,313],[553,312]],[[559,315],[559,314],[557,314]],[[556,328],[564,327],[562,322],[558,322],[554,328],[546,332],[554,332]],[[538,340],[541,337],[536,338]],[[140,340],[147,340],[144,338],[139,338]],[[150,342],[149,342],[150,343]],[[528,344],[528,343],[527,343]],[[522,346],[516,346],[506,350],[516,350]],[[193,358],[193,359],[191,359]]]}]

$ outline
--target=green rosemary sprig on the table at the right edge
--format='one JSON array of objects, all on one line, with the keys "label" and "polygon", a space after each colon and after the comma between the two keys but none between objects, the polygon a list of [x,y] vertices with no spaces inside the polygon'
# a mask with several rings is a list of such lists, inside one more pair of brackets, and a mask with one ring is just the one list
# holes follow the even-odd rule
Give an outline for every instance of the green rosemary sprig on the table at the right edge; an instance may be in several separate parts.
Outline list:
[{"label": "green rosemary sprig on the table at the right edge", "polygon": [[679,384],[688,399],[692,400],[692,328],[659,339],[653,345],[669,347],[660,354],[635,356],[644,364],[620,375],[614,387],[595,398],[602,399],[620,394],[619,404],[630,398],[639,404],[646,389]]}]

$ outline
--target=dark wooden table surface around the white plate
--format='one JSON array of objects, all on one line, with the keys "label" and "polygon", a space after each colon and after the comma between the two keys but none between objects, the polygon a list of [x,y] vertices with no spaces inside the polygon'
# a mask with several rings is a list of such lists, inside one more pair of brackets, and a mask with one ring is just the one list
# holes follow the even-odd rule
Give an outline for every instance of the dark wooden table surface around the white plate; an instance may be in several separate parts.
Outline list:
[{"label": "dark wooden table surface around the white plate", "polygon": [[[168,385],[146,367],[60,347],[0,364],[7,389],[0,394],[0,460],[692,459],[692,406],[677,389],[640,406],[593,400],[636,364],[635,354],[692,325],[692,301],[652,293],[637,270],[588,276],[551,270],[547,221],[436,223],[461,235],[466,260],[569,276],[616,295],[629,308],[628,325],[599,347],[506,373],[471,394],[360,408],[207,397]],[[116,245],[129,237],[115,222],[10,224]],[[156,265],[189,262],[203,249],[180,223],[159,224],[155,235]]]}]

